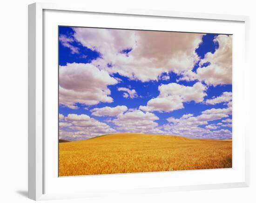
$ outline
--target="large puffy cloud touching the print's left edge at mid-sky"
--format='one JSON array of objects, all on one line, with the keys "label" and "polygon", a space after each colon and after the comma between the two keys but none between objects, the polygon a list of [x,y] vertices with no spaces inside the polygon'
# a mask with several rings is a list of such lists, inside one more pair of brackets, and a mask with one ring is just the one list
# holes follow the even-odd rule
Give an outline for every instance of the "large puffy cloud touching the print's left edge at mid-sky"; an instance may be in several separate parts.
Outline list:
[{"label": "large puffy cloud touching the print's left edge at mid-sky", "polygon": [[113,98],[108,85],[117,84],[106,70],[90,63],[67,63],[59,68],[59,101],[61,105],[77,109],[76,103],[95,105],[111,103]]}]

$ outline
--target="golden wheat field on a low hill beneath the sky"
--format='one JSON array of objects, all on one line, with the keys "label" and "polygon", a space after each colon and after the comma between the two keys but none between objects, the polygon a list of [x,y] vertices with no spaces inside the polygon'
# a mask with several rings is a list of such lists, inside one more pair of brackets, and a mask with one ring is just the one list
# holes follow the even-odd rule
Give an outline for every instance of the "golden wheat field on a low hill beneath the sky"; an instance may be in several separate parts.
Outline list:
[{"label": "golden wheat field on a low hill beneath the sky", "polygon": [[59,176],[232,167],[232,140],[118,133],[59,143]]}]

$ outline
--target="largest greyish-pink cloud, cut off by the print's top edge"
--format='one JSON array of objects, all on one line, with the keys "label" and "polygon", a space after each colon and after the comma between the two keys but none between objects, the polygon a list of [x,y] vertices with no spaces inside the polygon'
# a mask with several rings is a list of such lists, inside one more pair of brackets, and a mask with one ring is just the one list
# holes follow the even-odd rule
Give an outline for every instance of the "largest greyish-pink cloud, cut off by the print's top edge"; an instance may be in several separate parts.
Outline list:
[{"label": "largest greyish-pink cloud, cut off by the print's top edge", "polygon": [[[104,56],[92,63],[133,80],[158,80],[162,73],[191,70],[199,60],[195,53],[202,42],[199,33],[73,29],[75,40]],[[124,53],[125,49],[131,51]]]}]

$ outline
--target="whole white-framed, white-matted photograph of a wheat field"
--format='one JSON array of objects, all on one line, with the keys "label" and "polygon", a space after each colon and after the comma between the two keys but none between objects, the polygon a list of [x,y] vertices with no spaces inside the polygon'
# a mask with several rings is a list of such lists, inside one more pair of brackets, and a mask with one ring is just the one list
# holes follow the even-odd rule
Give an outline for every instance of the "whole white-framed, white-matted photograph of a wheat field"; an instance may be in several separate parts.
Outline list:
[{"label": "whole white-framed, white-matted photograph of a wheat field", "polygon": [[34,200],[249,186],[249,18],[34,3]]}]

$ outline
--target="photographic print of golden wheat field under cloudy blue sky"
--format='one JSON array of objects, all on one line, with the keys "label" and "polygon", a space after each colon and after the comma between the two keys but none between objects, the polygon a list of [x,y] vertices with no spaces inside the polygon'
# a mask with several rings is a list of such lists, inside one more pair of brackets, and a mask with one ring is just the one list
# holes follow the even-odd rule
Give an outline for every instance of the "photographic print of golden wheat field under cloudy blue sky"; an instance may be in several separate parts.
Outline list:
[{"label": "photographic print of golden wheat field under cloudy blue sky", "polygon": [[59,176],[232,168],[232,35],[59,26]]}]

